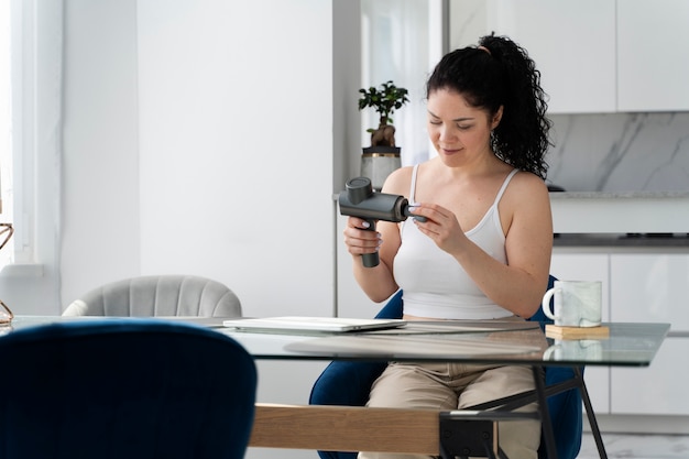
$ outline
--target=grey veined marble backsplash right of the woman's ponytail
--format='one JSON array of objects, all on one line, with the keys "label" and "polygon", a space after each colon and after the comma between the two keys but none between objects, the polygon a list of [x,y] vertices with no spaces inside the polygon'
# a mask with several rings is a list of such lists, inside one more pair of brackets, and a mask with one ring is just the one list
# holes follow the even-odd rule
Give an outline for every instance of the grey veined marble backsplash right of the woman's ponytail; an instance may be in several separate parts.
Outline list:
[{"label": "grey veined marble backsplash right of the woman's ponytail", "polygon": [[567,192],[689,190],[689,112],[550,119],[549,184]]}]

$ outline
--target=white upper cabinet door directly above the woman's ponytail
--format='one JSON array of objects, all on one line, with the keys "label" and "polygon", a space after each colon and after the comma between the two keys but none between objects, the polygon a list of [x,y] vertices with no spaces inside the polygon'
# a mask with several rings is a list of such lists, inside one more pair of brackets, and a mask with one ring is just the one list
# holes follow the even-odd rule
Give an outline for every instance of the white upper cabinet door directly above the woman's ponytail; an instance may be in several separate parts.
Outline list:
[{"label": "white upper cabinet door directly above the woman's ponytail", "polygon": [[488,4],[489,30],[510,36],[535,61],[549,113],[615,111],[615,0]]}]

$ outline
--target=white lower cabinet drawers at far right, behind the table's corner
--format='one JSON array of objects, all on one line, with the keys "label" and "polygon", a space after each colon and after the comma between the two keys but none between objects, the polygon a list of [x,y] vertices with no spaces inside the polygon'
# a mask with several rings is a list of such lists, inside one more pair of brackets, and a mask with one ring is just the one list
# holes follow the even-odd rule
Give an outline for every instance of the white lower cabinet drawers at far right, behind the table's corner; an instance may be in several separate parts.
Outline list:
[{"label": "white lower cabinet drawers at far right, behind the table's corner", "polygon": [[[611,317],[614,321],[669,323],[689,331],[689,254],[612,254]],[[689,338],[669,337],[647,369],[611,371],[615,414],[689,415]]]}]

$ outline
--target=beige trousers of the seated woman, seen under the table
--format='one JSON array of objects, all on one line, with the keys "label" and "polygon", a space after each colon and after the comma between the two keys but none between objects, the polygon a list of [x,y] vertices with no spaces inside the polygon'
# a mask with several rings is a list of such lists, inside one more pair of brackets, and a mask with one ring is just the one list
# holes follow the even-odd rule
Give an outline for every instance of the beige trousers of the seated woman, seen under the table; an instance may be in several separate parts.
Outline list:
[{"label": "beige trousers of the seated woman, seen under the table", "polygon": [[[458,409],[533,390],[529,367],[467,365],[461,363],[391,363],[373,383],[367,406]],[[520,411],[532,412],[537,404]],[[381,426],[381,428],[385,428]],[[499,423],[500,447],[511,459],[536,459],[540,422]],[[360,452],[359,459],[412,459],[427,456]]]}]

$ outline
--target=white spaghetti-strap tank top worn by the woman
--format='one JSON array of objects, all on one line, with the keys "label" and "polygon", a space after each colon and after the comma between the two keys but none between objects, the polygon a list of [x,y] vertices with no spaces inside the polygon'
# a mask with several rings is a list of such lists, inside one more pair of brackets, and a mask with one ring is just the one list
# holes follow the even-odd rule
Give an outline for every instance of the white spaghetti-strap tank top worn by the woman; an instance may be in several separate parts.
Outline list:
[{"label": "white spaghetti-strap tank top worn by the woman", "polygon": [[[415,203],[416,174],[412,173],[409,203]],[[507,263],[505,234],[500,222],[497,204],[507,188],[514,170],[497,192],[493,205],[481,221],[464,234],[495,260]],[[394,274],[403,291],[404,313],[437,319],[483,320],[513,314],[497,306],[474,284],[463,267],[450,254],[422,233],[411,220],[402,223],[402,244],[394,261]]]}]

